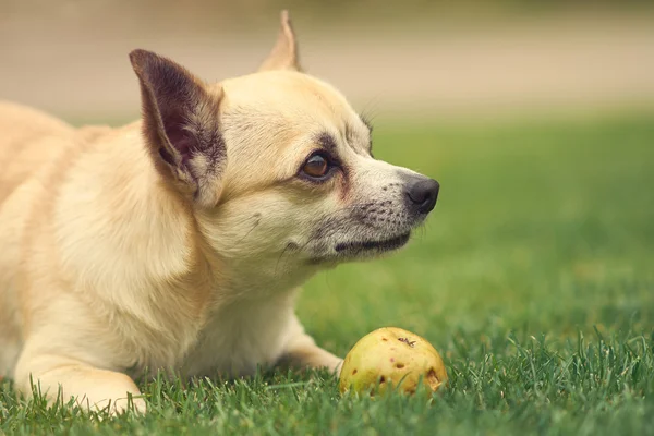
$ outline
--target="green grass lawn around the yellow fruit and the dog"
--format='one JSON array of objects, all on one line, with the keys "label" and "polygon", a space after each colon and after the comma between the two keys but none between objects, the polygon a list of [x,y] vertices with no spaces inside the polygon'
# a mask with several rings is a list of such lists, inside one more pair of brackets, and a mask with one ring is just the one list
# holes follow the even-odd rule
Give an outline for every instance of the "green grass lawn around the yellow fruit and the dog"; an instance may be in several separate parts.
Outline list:
[{"label": "green grass lawn around the yellow fruit and the dog", "polygon": [[419,399],[340,398],[326,373],[144,382],[149,413],[97,420],[0,388],[0,433],[654,434],[654,117],[377,126],[437,178],[410,247],[313,279],[299,313],[344,354],[395,325],[441,351]]}]

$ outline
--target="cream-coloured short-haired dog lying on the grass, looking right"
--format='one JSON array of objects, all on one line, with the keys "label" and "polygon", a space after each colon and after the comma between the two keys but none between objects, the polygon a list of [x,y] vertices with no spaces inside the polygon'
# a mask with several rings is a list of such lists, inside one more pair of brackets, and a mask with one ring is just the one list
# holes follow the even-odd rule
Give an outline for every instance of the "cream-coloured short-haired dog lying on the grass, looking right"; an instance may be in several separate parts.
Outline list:
[{"label": "cream-coloured short-haired dog lying on the grass, looking right", "polygon": [[295,315],[299,288],[403,246],[438,183],[373,157],[370,123],[302,71],[286,11],[250,75],[130,60],[134,123],[0,105],[0,377],[121,413],[146,411],[134,377],[154,371],[338,375]]}]

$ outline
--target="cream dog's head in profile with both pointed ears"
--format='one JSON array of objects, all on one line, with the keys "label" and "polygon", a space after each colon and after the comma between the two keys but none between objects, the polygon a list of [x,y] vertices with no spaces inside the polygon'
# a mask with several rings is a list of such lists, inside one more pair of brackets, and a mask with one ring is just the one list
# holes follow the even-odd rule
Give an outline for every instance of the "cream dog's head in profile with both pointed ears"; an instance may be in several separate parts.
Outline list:
[{"label": "cream dog's head in profile with both pointed ears", "polygon": [[301,72],[288,16],[255,74],[207,85],[152,52],[131,53],[144,134],[225,262],[289,275],[404,245],[438,183],[372,155],[372,128]]}]

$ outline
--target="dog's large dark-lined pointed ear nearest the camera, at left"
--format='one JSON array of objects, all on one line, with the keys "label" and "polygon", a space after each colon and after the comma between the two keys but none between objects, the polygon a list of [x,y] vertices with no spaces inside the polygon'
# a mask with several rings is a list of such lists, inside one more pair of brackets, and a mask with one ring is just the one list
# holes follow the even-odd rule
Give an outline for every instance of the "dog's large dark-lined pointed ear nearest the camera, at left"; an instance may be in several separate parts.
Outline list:
[{"label": "dog's large dark-lined pointed ear nearest the camera, at left", "polygon": [[130,60],[141,84],[143,133],[157,170],[204,207],[218,203],[226,147],[218,124],[221,94],[181,65],[146,50]]}]

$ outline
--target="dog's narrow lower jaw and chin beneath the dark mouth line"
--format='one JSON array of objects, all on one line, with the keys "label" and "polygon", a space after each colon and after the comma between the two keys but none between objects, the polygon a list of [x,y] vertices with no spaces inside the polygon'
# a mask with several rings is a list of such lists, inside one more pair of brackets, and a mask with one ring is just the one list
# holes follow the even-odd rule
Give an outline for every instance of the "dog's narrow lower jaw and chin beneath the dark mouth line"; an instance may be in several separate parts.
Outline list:
[{"label": "dog's narrow lower jaw and chin beneath the dark mouth line", "polygon": [[312,258],[312,263],[329,265],[379,257],[407,245],[410,238],[411,232],[408,231],[387,239],[339,242],[334,246],[331,253],[314,257]]}]

